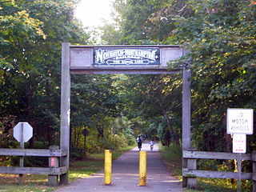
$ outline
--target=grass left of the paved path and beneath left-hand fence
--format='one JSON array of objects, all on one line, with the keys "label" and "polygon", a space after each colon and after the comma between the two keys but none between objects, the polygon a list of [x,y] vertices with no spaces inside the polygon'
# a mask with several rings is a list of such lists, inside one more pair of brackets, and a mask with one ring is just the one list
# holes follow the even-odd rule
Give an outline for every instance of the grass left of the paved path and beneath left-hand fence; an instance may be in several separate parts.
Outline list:
[{"label": "grass left of the paved path and beneath left-hand fence", "polygon": [[[127,146],[120,150],[112,151],[113,159],[131,150],[134,146]],[[98,154],[88,154],[82,160],[70,162],[70,182],[79,178],[86,178],[90,174],[96,173],[104,166],[104,152]],[[0,174],[0,192],[51,192],[58,187],[48,186],[48,176],[39,174],[26,174],[25,185],[18,186],[17,174]]]}]

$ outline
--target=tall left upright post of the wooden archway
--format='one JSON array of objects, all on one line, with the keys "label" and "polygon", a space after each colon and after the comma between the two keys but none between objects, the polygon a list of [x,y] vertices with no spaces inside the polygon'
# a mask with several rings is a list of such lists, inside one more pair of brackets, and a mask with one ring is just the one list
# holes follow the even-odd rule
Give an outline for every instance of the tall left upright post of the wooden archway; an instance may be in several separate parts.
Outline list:
[{"label": "tall left upright post of the wooden archway", "polygon": [[61,158],[61,166],[66,166],[67,173],[60,176],[60,184],[69,183],[70,164],[70,43],[62,43],[62,91],[61,91],[61,149],[67,155]]}]

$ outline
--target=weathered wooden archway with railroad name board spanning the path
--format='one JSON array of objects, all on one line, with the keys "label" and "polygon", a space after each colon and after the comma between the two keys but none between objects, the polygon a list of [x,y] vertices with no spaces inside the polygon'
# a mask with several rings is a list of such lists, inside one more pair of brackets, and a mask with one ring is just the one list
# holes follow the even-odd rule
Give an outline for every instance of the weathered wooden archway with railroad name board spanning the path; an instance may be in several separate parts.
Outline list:
[{"label": "weathered wooden archway with railroad name board spanning the path", "polygon": [[[70,149],[70,74],[175,74],[167,62],[187,54],[182,46],[71,46],[62,43],[61,149],[67,151],[60,166],[67,173],[60,176],[68,184]],[[182,67],[182,150],[190,148],[190,70]],[[186,161],[182,161],[186,167]]]}]

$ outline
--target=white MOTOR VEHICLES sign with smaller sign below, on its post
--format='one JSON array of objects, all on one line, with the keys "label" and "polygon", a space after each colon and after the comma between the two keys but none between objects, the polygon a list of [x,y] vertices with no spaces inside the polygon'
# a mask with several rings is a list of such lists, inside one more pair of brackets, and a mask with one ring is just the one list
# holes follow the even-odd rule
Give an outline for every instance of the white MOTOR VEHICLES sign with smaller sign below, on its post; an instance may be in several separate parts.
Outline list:
[{"label": "white MOTOR VEHICLES sign with smaller sign below, on its post", "polygon": [[242,190],[242,155],[246,153],[246,134],[254,133],[254,110],[231,109],[226,113],[226,132],[233,134],[233,153],[238,153],[238,186]]}]

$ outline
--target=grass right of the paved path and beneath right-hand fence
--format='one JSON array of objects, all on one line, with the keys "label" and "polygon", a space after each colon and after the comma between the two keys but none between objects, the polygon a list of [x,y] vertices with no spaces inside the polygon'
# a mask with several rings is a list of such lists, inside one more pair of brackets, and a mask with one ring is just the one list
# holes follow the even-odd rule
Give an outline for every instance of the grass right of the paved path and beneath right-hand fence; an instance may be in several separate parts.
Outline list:
[{"label": "grass right of the paved path and beneath right-hand fence", "polygon": [[[162,158],[166,166],[174,176],[182,180],[182,149],[180,146],[165,147],[160,145]],[[184,190],[185,192],[235,192],[236,183],[232,184],[229,179],[221,178],[197,178],[196,190]],[[243,182],[242,191],[250,192],[250,182]]]}]

